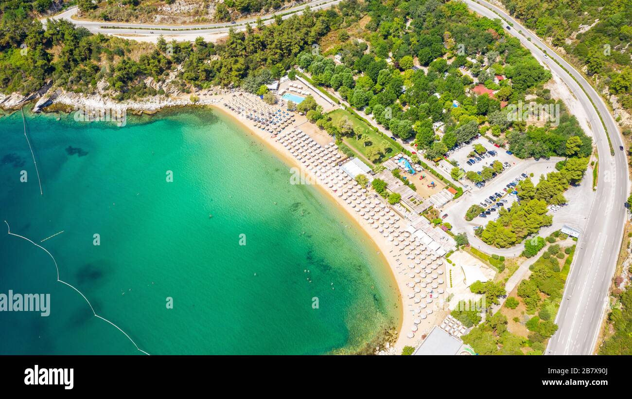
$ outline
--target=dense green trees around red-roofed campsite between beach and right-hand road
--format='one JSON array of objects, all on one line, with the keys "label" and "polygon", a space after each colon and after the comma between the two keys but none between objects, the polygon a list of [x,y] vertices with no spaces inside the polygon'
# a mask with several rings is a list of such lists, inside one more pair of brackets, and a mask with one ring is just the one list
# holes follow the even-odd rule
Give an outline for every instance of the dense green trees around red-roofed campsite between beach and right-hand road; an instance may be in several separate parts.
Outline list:
[{"label": "dense green trees around red-roofed campsite between beach and right-hand road", "polygon": [[[362,37],[342,32],[337,46],[322,54],[302,52],[296,64],[395,136],[415,138],[428,159],[478,133],[489,131],[504,142],[526,128],[523,123],[512,128],[502,111],[507,102],[523,101],[526,94],[549,100],[542,84],[550,72],[504,34],[499,20],[479,18],[456,1],[375,0],[365,9],[370,20]],[[489,92],[475,94],[477,84]],[[323,118],[316,122],[339,135],[337,126]],[[436,132],[437,122],[444,132]],[[590,147],[590,138],[582,138]]]}]

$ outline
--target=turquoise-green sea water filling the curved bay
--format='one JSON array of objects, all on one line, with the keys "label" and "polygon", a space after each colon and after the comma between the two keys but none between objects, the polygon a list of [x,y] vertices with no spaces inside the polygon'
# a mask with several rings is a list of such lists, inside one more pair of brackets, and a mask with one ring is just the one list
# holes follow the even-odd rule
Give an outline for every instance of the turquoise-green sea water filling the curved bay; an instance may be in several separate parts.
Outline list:
[{"label": "turquoise-green sea water filling the curved bay", "polygon": [[0,312],[0,353],[141,354],[4,220],[151,354],[348,353],[399,325],[368,237],[226,116],[27,114],[43,196],[22,126],[0,118],[0,293],[50,293],[51,316]]}]

